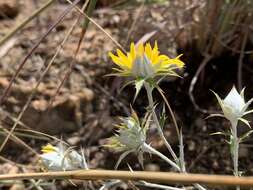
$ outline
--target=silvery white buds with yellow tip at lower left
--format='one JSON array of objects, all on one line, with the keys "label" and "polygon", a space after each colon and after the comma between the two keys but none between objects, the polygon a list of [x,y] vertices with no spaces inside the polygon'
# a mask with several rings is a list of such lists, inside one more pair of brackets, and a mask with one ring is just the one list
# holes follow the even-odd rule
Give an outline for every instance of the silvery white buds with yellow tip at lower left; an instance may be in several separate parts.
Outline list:
[{"label": "silvery white buds with yellow tip at lower left", "polygon": [[43,166],[50,171],[65,171],[84,168],[83,157],[75,150],[60,144],[52,146],[50,144],[42,148],[40,155]]}]

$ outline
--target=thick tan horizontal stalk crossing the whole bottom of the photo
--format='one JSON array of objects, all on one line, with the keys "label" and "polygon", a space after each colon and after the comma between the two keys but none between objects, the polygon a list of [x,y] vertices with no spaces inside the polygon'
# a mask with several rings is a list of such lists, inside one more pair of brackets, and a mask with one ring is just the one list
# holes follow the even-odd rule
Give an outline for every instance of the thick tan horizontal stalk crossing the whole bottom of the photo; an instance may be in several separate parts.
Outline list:
[{"label": "thick tan horizontal stalk crossing the whole bottom of the photo", "polygon": [[116,170],[75,170],[42,173],[22,173],[0,175],[2,180],[24,179],[77,179],[106,180],[120,179],[139,181],[145,180],[164,184],[205,184],[209,186],[241,186],[252,187],[253,177],[235,177],[228,175],[185,174],[173,172],[116,171]]}]

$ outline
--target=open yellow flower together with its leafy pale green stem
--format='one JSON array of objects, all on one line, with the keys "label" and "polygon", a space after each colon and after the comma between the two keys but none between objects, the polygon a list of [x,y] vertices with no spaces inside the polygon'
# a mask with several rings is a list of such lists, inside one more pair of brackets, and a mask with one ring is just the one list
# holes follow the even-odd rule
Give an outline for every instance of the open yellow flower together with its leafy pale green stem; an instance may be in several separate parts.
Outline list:
[{"label": "open yellow flower together with its leafy pale green stem", "polygon": [[[184,67],[184,63],[179,59],[181,55],[174,59],[171,59],[164,54],[160,54],[157,42],[155,42],[153,48],[151,47],[150,43],[146,43],[145,45],[139,44],[137,46],[135,46],[134,43],[131,43],[130,51],[126,54],[117,49],[117,56],[111,52],[109,53],[109,56],[111,57],[112,61],[119,67],[114,68],[116,71],[115,75],[130,76],[134,78],[134,84],[136,88],[134,100],[137,97],[140,89],[143,86],[145,87],[148,95],[149,106],[152,109],[153,119],[157,125],[159,135],[162,137],[174,160],[178,162],[177,156],[163,135],[158,117],[153,110],[154,102],[152,91],[154,88],[159,89],[158,81],[162,77],[178,76],[175,70]],[[159,92],[162,93],[161,89],[159,89]],[[175,123],[174,115],[171,109],[170,112]],[[178,128],[177,131],[179,136]]]}]

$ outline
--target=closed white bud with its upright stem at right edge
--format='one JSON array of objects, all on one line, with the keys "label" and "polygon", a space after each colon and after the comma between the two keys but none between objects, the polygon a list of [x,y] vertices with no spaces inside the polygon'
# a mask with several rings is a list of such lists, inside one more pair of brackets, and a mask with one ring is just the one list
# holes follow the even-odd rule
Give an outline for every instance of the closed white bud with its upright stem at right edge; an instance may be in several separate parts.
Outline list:
[{"label": "closed white bud with its upright stem at right edge", "polygon": [[245,123],[247,126],[250,127],[249,122],[246,119],[244,119],[243,116],[253,112],[253,110],[247,111],[249,105],[253,101],[253,98],[251,98],[248,102],[246,102],[244,98],[244,89],[239,93],[234,86],[224,99],[221,99],[215,92],[213,93],[215,94],[218,100],[218,103],[222,109],[223,114],[212,114],[211,116],[225,117],[231,123],[229,133],[230,137],[229,144],[234,165],[234,175],[240,176],[241,173],[238,170],[239,144],[242,140],[248,137],[250,133],[252,133],[252,130],[248,131],[243,136],[238,137],[237,125],[238,121],[242,121],[243,123]]}]

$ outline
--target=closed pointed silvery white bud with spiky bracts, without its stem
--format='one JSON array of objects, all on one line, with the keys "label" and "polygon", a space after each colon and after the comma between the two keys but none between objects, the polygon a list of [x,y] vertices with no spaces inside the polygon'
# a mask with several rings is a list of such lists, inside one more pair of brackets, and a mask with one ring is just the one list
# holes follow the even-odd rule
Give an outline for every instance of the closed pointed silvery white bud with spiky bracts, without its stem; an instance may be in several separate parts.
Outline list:
[{"label": "closed pointed silvery white bud with spiky bracts, without its stem", "polygon": [[253,98],[251,98],[248,102],[245,102],[244,89],[239,94],[236,88],[233,86],[224,100],[222,100],[215,92],[214,94],[218,99],[218,102],[224,114],[223,116],[226,119],[228,119],[231,123],[241,120],[245,124],[249,125],[249,123],[246,120],[242,119],[242,117],[252,112],[252,110],[246,110],[253,101]]}]

